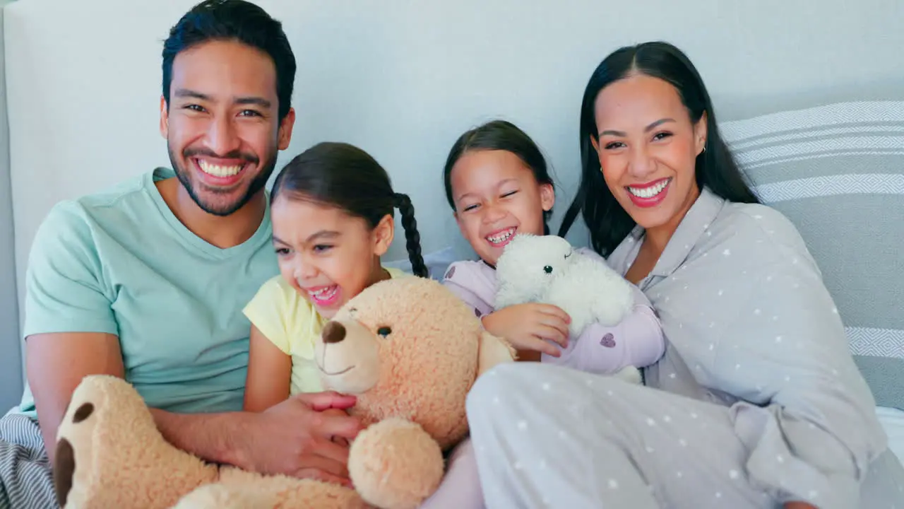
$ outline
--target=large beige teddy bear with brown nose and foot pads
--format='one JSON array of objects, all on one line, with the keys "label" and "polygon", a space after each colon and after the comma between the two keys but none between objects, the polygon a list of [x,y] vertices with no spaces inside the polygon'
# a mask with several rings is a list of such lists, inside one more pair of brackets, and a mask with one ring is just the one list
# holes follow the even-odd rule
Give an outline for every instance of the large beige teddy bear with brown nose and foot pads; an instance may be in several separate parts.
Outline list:
[{"label": "large beige teddy bear with brown nose and foot pads", "polygon": [[410,276],[372,285],[325,325],[316,344],[325,389],[357,396],[355,489],[203,462],[157,431],[137,391],[83,379],[63,418],[54,478],[64,509],[417,507],[437,489],[443,453],[467,433],[467,391],[513,360],[440,283]]}]

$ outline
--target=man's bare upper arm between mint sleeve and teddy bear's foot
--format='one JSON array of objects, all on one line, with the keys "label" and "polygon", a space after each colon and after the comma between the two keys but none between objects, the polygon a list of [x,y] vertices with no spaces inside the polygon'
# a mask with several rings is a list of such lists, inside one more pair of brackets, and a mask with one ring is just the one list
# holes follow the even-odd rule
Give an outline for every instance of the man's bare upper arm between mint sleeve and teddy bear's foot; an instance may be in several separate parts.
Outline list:
[{"label": "man's bare upper arm between mint sleeve and teddy bear's foot", "polygon": [[52,463],[57,427],[81,379],[88,375],[123,378],[119,341],[113,334],[102,332],[34,334],[25,340],[25,365],[44,447]]}]

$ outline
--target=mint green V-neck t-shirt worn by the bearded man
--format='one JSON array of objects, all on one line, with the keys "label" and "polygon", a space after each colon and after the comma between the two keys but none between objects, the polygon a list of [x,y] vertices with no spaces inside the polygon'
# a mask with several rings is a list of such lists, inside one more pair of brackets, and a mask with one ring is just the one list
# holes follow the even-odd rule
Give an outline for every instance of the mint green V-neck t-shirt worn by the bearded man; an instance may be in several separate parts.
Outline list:
[{"label": "mint green V-neck t-shirt worn by the bearded man", "polygon": [[[241,312],[278,274],[269,209],[258,231],[228,249],[189,231],[166,206],[157,168],[106,192],[61,202],[28,261],[23,335],[116,334],[148,406],[240,410],[250,322]],[[35,417],[26,387],[19,408]]]}]

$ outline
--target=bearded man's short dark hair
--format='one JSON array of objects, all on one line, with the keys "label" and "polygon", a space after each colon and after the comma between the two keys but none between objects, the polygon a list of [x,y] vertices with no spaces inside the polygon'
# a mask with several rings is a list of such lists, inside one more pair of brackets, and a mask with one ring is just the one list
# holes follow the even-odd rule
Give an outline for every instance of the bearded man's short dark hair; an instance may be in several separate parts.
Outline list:
[{"label": "bearded man's short dark hair", "polygon": [[282,23],[270,17],[258,5],[244,0],[204,0],[185,13],[170,29],[164,42],[164,99],[170,100],[175,56],[197,44],[209,41],[236,41],[267,53],[277,70],[279,120],[283,120],[292,101],[295,84],[295,54],[289,46]]}]

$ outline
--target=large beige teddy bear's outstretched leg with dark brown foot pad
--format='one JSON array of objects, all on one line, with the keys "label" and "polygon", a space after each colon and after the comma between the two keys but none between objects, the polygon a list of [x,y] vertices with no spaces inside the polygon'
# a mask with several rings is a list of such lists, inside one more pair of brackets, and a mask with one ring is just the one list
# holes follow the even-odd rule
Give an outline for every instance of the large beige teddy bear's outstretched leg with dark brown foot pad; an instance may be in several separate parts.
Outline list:
[{"label": "large beige teddy bear's outstretched leg with dark brown foot pad", "polygon": [[58,431],[54,483],[62,509],[359,509],[354,490],[218,467],[170,445],[123,379],[89,376]]}]

